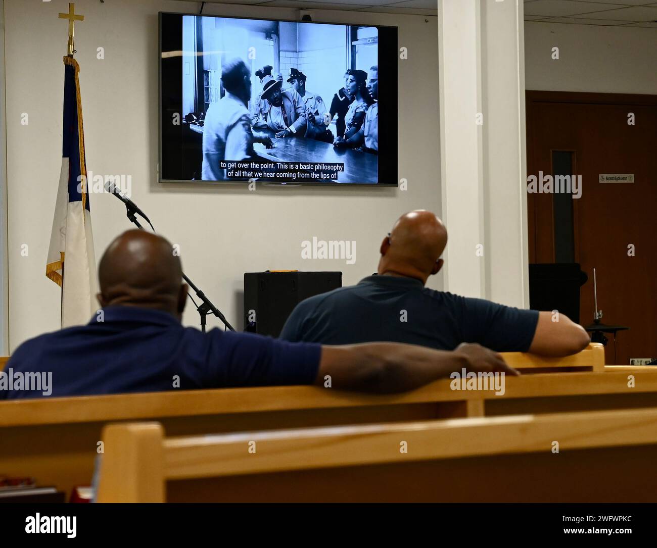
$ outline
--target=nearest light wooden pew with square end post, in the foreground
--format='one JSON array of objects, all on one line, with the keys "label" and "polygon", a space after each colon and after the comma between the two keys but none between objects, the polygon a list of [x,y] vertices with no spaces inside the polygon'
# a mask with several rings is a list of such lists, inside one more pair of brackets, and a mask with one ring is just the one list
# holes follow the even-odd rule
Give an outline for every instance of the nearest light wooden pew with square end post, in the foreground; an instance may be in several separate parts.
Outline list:
[{"label": "nearest light wooden pew with square end post, in the foreground", "polygon": [[99,502],[657,501],[656,409],[103,441]]}]

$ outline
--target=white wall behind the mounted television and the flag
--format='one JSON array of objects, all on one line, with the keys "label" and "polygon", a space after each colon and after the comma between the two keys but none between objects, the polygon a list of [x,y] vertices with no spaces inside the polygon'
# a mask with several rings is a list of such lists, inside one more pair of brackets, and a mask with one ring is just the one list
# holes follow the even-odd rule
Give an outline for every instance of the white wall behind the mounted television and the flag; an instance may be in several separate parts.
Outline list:
[{"label": "white wall behind the mounted television and the flag", "polygon": [[[399,26],[399,177],[392,188],[278,188],[159,185],[158,11],[191,12],[196,3],[164,0],[78,0],[76,58],[81,66],[87,169],[131,175],[133,199],[159,232],[181,246],[183,266],[236,327],[242,326],[242,274],[267,268],[342,270],[354,284],[376,270],[378,246],[392,222],[416,208],[440,212],[436,18],[315,11],[316,20]],[[60,292],[45,277],[45,257],[61,162],[68,0],[5,0],[7,194],[9,203],[10,350],[59,326]],[[296,18],[292,9],[217,6],[206,14]],[[97,48],[104,48],[104,60]],[[383,83],[382,83],[383,85]],[[27,112],[29,124],[21,125]],[[382,126],[381,131],[385,131]],[[97,258],[130,228],[122,204],[91,196]],[[355,240],[353,265],[303,261],[301,242]],[[28,257],[20,246],[27,243]],[[430,285],[440,288],[440,277]],[[193,308],[185,324],[197,325]],[[218,326],[214,318],[210,326]]]}]

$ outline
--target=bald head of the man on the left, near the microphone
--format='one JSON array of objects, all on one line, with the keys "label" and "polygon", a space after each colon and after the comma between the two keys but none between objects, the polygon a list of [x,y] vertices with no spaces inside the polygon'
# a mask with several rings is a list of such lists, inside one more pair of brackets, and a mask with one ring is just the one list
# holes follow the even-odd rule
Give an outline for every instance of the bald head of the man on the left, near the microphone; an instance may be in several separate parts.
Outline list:
[{"label": "bald head of the man on the left, near the microphone", "polygon": [[187,297],[180,258],[167,240],[143,230],[114,239],[98,269],[101,306],[141,306],[181,319]]}]

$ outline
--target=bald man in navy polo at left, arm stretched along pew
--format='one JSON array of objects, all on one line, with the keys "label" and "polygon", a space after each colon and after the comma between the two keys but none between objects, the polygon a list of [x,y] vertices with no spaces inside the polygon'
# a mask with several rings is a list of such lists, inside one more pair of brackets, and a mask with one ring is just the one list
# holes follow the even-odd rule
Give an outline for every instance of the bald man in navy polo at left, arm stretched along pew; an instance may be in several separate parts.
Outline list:
[{"label": "bald man in navy polo at left, arm stretched along pew", "polygon": [[[322,347],[252,333],[183,327],[179,257],[160,236],[129,230],[99,265],[102,309],[86,326],[26,341],[0,372],[0,399],[263,385],[399,392],[452,371],[516,374],[479,345],[455,352],[391,343]],[[51,374],[47,392],[14,382]],[[12,383],[8,383],[8,379]],[[12,387],[13,389],[10,389]]]}]

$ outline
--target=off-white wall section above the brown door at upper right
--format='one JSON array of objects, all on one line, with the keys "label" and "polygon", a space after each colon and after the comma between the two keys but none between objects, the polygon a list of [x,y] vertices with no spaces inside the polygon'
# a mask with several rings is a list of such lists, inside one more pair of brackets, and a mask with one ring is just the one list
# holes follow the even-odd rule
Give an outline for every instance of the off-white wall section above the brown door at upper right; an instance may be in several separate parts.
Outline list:
[{"label": "off-white wall section above the brown door at upper right", "polygon": [[[553,47],[559,59],[551,58]],[[657,29],[525,22],[526,89],[657,93]]]}]

